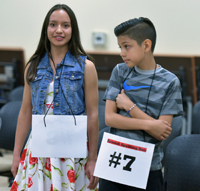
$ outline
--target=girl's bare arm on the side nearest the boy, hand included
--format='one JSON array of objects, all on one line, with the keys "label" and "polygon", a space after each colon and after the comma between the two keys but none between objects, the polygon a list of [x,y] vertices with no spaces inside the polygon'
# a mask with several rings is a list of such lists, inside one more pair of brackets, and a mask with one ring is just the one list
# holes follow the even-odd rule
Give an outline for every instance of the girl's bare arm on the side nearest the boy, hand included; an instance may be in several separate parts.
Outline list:
[{"label": "girl's bare arm on the side nearest the boy, hand included", "polygon": [[89,156],[86,167],[86,174],[90,180],[88,188],[94,189],[98,183],[98,178],[93,176],[97,159],[97,145],[99,133],[98,78],[95,66],[89,60],[86,60],[84,85],[87,114],[87,134],[89,142]]}]

